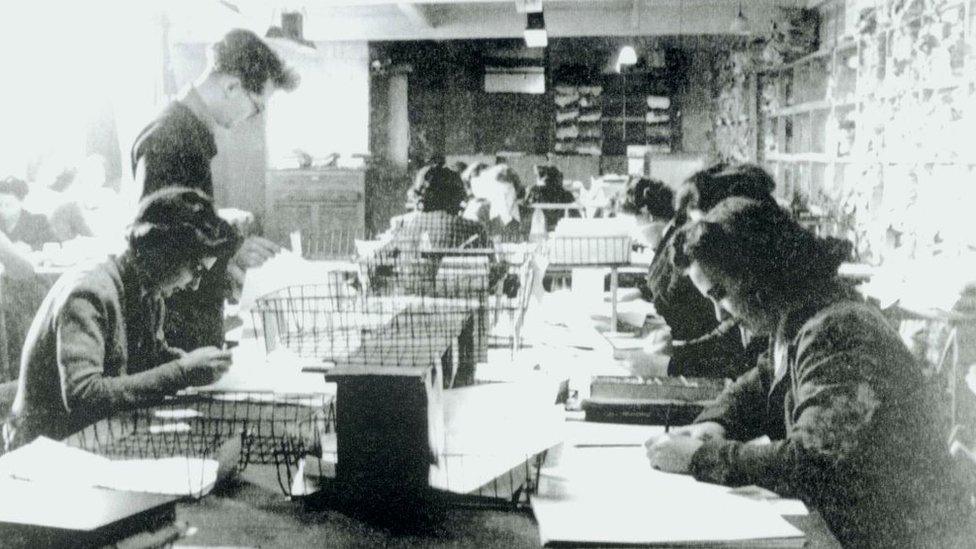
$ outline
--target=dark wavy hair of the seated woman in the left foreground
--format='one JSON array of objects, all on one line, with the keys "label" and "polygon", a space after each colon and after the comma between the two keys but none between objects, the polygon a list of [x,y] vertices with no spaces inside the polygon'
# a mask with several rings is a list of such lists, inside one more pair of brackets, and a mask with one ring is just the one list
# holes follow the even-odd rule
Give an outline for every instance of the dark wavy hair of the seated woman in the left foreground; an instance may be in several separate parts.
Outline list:
[{"label": "dark wavy hair of the seated woman in the left foreground", "polygon": [[213,201],[188,187],[167,187],[139,202],[126,239],[139,270],[153,283],[205,257],[230,258],[241,236],[221,219]]}]

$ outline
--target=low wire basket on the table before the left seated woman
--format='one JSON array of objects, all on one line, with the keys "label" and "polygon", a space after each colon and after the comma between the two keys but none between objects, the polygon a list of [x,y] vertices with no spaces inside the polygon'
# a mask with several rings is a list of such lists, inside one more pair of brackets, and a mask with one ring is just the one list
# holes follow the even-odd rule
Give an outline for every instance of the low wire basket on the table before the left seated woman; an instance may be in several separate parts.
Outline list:
[{"label": "low wire basket on the table before the left seated woman", "polygon": [[199,466],[212,459],[222,477],[249,464],[293,462],[288,452],[294,441],[317,440],[320,431],[331,429],[334,417],[332,395],[185,394],[117,413],[65,442],[111,459],[183,457],[200,460],[188,461]]}]

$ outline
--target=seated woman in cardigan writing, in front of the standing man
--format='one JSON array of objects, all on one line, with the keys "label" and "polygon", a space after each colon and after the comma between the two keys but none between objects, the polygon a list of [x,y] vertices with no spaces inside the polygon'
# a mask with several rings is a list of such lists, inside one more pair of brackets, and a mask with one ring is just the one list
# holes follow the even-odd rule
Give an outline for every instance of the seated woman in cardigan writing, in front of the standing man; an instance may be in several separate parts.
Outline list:
[{"label": "seated woman in cardigan writing, in front of the standing man", "polygon": [[8,449],[38,436],[61,439],[129,407],[207,385],[230,352],[185,352],[162,339],[163,298],[199,284],[239,236],[199,191],[171,187],[147,196],[128,247],[104,263],[66,273],[34,317],[17,396],[4,426]]}]

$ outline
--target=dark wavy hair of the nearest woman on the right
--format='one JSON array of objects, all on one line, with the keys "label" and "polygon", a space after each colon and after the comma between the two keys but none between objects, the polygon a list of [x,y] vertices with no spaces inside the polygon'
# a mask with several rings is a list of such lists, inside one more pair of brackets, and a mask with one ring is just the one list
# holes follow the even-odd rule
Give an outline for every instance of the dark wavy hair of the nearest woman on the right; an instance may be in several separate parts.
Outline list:
[{"label": "dark wavy hair of the nearest woman on the right", "polygon": [[833,280],[853,247],[846,240],[819,238],[775,202],[732,197],[674,240],[675,266],[698,262],[762,294],[761,302],[796,302]]}]

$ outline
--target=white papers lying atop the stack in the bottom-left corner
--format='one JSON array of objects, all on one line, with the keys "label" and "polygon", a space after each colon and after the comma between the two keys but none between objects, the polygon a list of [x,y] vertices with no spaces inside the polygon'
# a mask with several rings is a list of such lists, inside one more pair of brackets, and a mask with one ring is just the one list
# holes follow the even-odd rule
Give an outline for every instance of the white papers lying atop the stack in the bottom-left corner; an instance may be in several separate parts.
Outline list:
[{"label": "white papers lying atop the stack in the bottom-left corner", "polygon": [[0,476],[128,492],[202,496],[217,482],[213,459],[111,460],[46,437],[0,457]]}]

